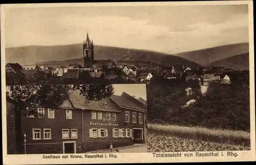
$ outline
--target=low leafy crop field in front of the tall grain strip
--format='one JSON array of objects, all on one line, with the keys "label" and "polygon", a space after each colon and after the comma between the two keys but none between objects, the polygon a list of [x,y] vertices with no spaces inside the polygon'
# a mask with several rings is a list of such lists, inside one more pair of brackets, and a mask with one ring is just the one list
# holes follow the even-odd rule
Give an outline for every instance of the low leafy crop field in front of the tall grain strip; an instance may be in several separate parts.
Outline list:
[{"label": "low leafy crop field in front of the tall grain strip", "polygon": [[241,151],[250,147],[198,141],[148,131],[148,152]]}]

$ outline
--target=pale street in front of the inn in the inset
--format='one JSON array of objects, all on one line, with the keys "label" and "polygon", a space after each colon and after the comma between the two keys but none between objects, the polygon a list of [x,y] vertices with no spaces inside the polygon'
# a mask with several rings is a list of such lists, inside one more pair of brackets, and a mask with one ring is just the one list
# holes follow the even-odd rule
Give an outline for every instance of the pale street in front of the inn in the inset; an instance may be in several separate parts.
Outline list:
[{"label": "pale street in front of the inn in the inset", "polygon": [[100,150],[100,151],[94,151],[90,153],[140,153],[140,152],[147,152],[147,144],[140,144],[140,145],[133,145],[133,146],[127,146],[127,147],[120,147],[117,148],[119,152],[116,151],[116,148],[113,149],[111,152],[110,149],[108,150]]}]

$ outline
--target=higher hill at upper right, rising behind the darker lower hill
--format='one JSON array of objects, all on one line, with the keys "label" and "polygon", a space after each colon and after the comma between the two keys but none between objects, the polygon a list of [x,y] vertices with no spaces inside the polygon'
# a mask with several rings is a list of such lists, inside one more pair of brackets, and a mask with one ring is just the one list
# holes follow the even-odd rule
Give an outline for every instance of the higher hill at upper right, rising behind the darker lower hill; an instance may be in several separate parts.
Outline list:
[{"label": "higher hill at upper right, rising behind the darker lower hill", "polygon": [[249,52],[249,43],[229,44],[195,51],[181,52],[173,54],[187,60],[194,61],[200,65],[207,65],[209,63],[237,56]]}]

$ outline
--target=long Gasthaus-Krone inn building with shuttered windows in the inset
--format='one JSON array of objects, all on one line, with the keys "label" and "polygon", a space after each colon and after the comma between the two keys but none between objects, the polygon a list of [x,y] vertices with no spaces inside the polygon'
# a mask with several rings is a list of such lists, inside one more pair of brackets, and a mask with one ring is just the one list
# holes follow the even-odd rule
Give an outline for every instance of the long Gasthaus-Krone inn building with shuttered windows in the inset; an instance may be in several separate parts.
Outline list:
[{"label": "long Gasthaus-Krone inn building with shuttered windows in the inset", "polygon": [[[71,90],[59,108],[36,107],[44,117],[22,114],[15,125],[12,104],[7,103],[8,154],[83,153],[145,143],[146,103],[123,92],[100,101],[85,101]],[[17,120],[17,119],[16,119]],[[17,128],[18,127],[18,128]]]}]

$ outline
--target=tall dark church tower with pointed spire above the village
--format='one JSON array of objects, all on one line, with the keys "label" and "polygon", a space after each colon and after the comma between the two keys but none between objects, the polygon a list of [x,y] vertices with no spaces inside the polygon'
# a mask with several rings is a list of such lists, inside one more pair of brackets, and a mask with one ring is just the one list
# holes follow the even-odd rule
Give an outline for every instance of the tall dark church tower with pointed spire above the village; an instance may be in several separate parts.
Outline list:
[{"label": "tall dark church tower with pointed spire above the village", "polygon": [[83,67],[90,68],[94,62],[94,45],[93,41],[90,40],[89,35],[87,33],[86,41],[83,40]]}]

